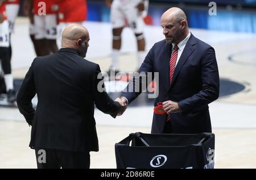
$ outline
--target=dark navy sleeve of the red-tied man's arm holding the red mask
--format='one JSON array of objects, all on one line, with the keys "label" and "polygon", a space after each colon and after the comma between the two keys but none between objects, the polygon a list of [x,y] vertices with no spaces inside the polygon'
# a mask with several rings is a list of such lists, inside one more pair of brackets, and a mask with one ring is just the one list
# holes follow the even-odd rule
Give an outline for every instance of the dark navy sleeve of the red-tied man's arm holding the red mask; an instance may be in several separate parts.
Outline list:
[{"label": "dark navy sleeve of the red-tied man's arm holding the red mask", "polygon": [[220,93],[220,78],[214,49],[207,49],[201,59],[202,88],[199,93],[178,102],[181,111],[189,114],[216,100]]}]

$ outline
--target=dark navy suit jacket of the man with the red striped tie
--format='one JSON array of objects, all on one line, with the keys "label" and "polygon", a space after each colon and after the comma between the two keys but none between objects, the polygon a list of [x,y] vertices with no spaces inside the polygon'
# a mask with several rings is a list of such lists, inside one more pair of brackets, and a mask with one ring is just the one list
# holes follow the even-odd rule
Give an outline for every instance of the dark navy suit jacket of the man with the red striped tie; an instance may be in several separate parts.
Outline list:
[{"label": "dark navy suit jacket of the man with the red striped tie", "polygon": [[[159,72],[158,102],[178,102],[182,112],[171,114],[172,132],[211,132],[208,104],[218,98],[220,80],[214,49],[191,34],[176,65],[172,84],[169,81],[169,63],[172,45],[165,40],[156,43],[148,52],[139,72]],[[137,81],[136,81],[137,82]],[[135,81],[131,82],[134,83]],[[122,96],[131,103],[141,92],[134,93],[127,86]],[[152,133],[162,133],[166,115],[154,114]]]}]

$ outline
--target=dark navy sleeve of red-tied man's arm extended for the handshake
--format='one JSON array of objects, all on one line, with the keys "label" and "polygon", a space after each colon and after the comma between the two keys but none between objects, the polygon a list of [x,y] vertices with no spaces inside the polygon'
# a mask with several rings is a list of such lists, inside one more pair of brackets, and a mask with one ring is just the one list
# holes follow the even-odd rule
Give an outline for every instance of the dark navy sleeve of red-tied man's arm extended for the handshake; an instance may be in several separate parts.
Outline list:
[{"label": "dark navy sleeve of red-tied man's arm extended for the handshake", "polygon": [[[145,87],[147,88],[149,83],[152,82],[148,81],[147,77],[148,73],[154,72],[153,59],[154,46],[150,49],[141,67],[139,68],[139,74],[137,74],[138,76],[133,77],[133,79],[129,82],[129,85],[121,94],[121,97],[125,97],[129,104],[133,102],[142,93],[142,91],[146,90]],[[146,79],[146,81],[142,81],[142,79]],[[152,73],[152,79],[154,79],[154,73]]]}]

